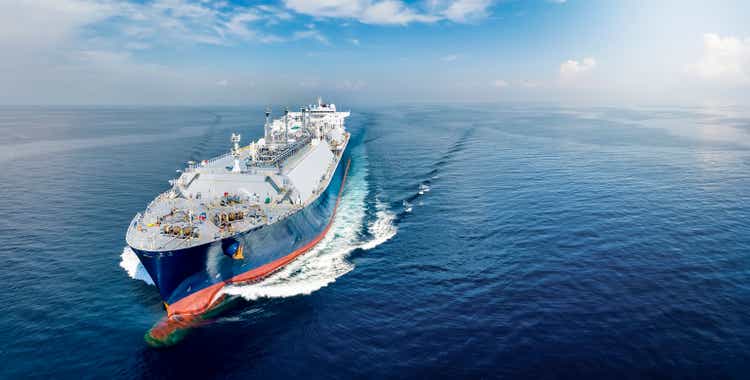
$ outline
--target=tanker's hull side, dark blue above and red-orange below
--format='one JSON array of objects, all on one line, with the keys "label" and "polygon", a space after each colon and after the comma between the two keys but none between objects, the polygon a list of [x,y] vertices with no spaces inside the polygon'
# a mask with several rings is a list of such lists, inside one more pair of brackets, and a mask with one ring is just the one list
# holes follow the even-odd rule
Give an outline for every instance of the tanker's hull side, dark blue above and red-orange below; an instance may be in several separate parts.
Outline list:
[{"label": "tanker's hull side, dark blue above and red-orange below", "polygon": [[[330,228],[349,168],[345,151],[328,186],[307,207],[275,223],[223,240],[166,252],[133,248],[159,289],[169,315],[199,314],[227,284],[260,280],[314,247]],[[231,242],[243,258],[226,254]]]}]

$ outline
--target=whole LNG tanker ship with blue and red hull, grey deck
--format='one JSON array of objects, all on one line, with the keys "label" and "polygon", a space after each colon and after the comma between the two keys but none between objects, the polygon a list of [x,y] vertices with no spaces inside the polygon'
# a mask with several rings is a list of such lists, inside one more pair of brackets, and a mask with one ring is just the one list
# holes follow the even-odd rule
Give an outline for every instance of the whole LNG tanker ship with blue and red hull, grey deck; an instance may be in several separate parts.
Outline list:
[{"label": "whole LNG tanker ship with blue and red hull, grey deck", "polygon": [[232,134],[228,153],[188,162],[133,218],[126,241],[159,289],[162,327],[210,311],[224,286],[261,280],[323,238],[349,168],[348,116],[320,99],[275,120],[267,110],[263,138],[242,146]]}]

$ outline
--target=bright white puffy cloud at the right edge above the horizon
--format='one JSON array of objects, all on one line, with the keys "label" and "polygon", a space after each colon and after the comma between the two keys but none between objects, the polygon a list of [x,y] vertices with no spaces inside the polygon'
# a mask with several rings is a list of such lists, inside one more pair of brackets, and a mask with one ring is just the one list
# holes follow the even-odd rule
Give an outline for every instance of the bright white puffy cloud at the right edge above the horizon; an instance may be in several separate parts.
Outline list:
[{"label": "bright white puffy cloud at the right edge above the horizon", "polygon": [[750,38],[703,35],[703,56],[686,71],[704,80],[750,82]]}]

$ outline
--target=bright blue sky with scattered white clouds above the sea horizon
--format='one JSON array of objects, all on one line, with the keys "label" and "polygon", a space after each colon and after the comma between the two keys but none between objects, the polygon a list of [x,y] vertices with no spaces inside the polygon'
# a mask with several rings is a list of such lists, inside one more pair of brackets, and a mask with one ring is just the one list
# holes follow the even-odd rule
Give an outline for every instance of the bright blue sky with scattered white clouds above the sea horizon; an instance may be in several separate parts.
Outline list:
[{"label": "bright blue sky with scattered white clouds above the sea horizon", "polygon": [[750,101],[750,2],[0,0],[0,104]]}]

